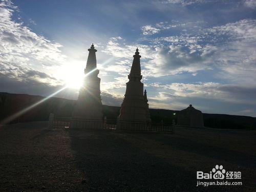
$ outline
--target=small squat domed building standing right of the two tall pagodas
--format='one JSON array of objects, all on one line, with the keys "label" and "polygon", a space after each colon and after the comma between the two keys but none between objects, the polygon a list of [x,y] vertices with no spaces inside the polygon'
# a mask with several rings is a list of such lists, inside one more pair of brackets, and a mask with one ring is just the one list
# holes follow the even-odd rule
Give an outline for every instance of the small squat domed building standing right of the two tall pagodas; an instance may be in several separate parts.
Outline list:
[{"label": "small squat domed building standing right of the two tall pagodas", "polygon": [[201,111],[196,110],[191,104],[187,109],[181,110],[177,117],[177,125],[203,127],[204,120]]}]

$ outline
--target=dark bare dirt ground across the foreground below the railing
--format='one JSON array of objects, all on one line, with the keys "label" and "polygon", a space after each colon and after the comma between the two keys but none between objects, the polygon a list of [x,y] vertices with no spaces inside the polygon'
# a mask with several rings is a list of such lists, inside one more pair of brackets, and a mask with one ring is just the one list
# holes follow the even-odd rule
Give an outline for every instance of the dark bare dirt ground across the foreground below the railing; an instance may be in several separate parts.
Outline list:
[{"label": "dark bare dirt ground across the foreground below the railing", "polygon": [[[0,191],[256,191],[256,132],[175,134],[0,127]],[[196,186],[197,170],[242,172],[242,186]]]}]

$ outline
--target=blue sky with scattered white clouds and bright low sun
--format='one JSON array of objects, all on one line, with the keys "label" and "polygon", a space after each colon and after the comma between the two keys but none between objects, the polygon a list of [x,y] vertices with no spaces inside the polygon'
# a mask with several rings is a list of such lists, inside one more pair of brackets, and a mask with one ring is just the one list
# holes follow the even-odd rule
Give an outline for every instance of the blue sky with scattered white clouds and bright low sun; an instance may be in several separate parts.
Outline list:
[{"label": "blue sky with scattered white clouds and bright low sun", "polygon": [[0,1],[0,92],[77,99],[92,42],[103,104],[138,47],[150,108],[256,117],[256,0]]}]

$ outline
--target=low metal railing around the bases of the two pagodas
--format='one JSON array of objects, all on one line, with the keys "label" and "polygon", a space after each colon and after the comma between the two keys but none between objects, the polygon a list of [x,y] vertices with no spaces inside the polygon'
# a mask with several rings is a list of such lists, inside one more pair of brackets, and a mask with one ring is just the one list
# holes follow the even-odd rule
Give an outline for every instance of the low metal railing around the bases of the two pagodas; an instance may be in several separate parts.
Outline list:
[{"label": "low metal railing around the bases of the two pagodas", "polygon": [[129,131],[155,131],[173,132],[174,125],[163,122],[141,122],[141,121],[117,121],[117,120],[94,120],[75,118],[49,119],[52,129],[103,129],[103,130],[129,130]]}]

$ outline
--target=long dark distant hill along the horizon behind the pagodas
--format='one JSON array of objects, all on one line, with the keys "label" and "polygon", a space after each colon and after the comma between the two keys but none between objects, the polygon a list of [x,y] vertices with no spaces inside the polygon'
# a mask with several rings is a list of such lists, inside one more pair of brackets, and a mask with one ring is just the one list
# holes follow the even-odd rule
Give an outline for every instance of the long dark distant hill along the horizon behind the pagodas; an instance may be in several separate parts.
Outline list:
[{"label": "long dark distant hill along the horizon behind the pagodas", "polygon": [[[28,106],[44,99],[42,96],[27,94],[11,94],[0,92],[0,121],[8,116],[27,108]],[[35,106],[22,116],[14,119],[15,122],[45,121],[49,114],[53,113],[56,117],[72,117],[75,100],[51,97],[45,102]],[[103,114],[107,119],[116,119],[119,115],[119,106],[103,105]],[[172,122],[177,119],[179,111],[150,109],[152,121]],[[176,113],[176,115],[174,115]],[[239,115],[224,114],[203,114],[204,125],[220,129],[255,129],[256,118]]]}]

